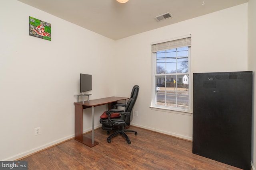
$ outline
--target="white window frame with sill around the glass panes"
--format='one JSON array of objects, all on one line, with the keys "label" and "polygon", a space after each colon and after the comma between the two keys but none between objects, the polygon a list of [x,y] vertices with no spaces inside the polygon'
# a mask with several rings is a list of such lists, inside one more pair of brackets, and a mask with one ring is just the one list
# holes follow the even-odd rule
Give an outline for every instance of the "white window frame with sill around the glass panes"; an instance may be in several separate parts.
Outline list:
[{"label": "white window frame with sill around the glass panes", "polygon": [[[191,35],[188,35],[186,37],[191,37]],[[176,39],[172,39],[169,41],[174,41],[174,40],[178,40],[178,39],[182,39],[182,38],[186,38],[186,37],[180,37],[180,38],[176,38]],[[163,42],[168,42],[168,41],[163,41]],[[156,43],[154,43],[156,44]],[[159,111],[167,111],[167,112],[172,112],[172,113],[181,113],[181,114],[188,114],[191,115],[192,114],[192,76],[191,76],[191,45],[186,46],[188,47],[188,84],[189,84],[189,90],[188,90],[188,108],[181,108],[181,107],[172,107],[172,106],[160,106],[160,105],[156,105],[156,95],[157,95],[157,91],[156,91],[156,76],[159,75],[164,75],[167,76],[169,74],[156,74],[156,66],[157,66],[157,59],[156,59],[156,52],[152,52],[152,102],[151,102],[151,109],[154,110],[159,110]],[[176,48],[180,48],[180,47],[175,47],[173,49]],[[160,50],[161,51],[161,50]],[[180,74],[180,73],[176,73]]]}]

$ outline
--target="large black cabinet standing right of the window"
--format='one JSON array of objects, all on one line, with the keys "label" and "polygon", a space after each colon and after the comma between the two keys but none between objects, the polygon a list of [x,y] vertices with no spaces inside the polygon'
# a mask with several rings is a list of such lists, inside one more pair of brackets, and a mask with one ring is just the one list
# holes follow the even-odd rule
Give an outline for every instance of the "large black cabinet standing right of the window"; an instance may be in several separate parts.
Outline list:
[{"label": "large black cabinet standing right of the window", "polygon": [[252,71],[193,74],[193,153],[250,170]]}]

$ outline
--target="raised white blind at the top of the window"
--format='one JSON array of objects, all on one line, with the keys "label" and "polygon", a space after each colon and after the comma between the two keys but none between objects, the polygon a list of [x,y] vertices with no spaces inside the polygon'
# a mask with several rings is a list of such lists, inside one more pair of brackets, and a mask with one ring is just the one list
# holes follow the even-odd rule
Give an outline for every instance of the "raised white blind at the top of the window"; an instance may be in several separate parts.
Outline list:
[{"label": "raised white blind at the top of the window", "polygon": [[167,41],[164,43],[158,43],[151,45],[152,53],[157,51],[164,51],[168,49],[175,49],[180,47],[188,47],[191,46],[191,37],[176,39],[173,41]]}]

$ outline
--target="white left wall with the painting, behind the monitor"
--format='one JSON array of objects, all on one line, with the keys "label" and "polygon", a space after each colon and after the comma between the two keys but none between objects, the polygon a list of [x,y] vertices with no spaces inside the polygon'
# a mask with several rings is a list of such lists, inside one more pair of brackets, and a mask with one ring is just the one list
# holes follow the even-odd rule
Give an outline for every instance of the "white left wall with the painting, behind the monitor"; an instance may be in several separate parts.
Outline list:
[{"label": "white left wall with the painting, behind the monitor", "polygon": [[[52,24],[52,41],[29,35],[29,16]],[[92,74],[90,99],[115,95],[113,40],[16,0],[0,1],[0,37],[0,160],[74,137],[80,73]],[[89,131],[91,109],[84,112]]]}]

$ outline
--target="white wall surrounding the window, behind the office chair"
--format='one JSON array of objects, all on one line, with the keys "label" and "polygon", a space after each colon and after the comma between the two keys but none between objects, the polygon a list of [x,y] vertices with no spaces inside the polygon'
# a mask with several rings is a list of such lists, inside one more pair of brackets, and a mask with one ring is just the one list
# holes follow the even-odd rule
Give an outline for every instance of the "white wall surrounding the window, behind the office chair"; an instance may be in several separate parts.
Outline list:
[{"label": "white wall surrounding the window, behind the office chair", "polygon": [[133,116],[132,125],[192,140],[192,115],[150,109],[150,43],[191,34],[192,73],[247,70],[247,5],[242,4],[117,41],[116,61],[120,63],[116,64],[117,70],[120,70],[117,75],[118,95],[122,96],[123,89],[131,88],[134,84],[140,86],[134,107],[138,117]]}]

